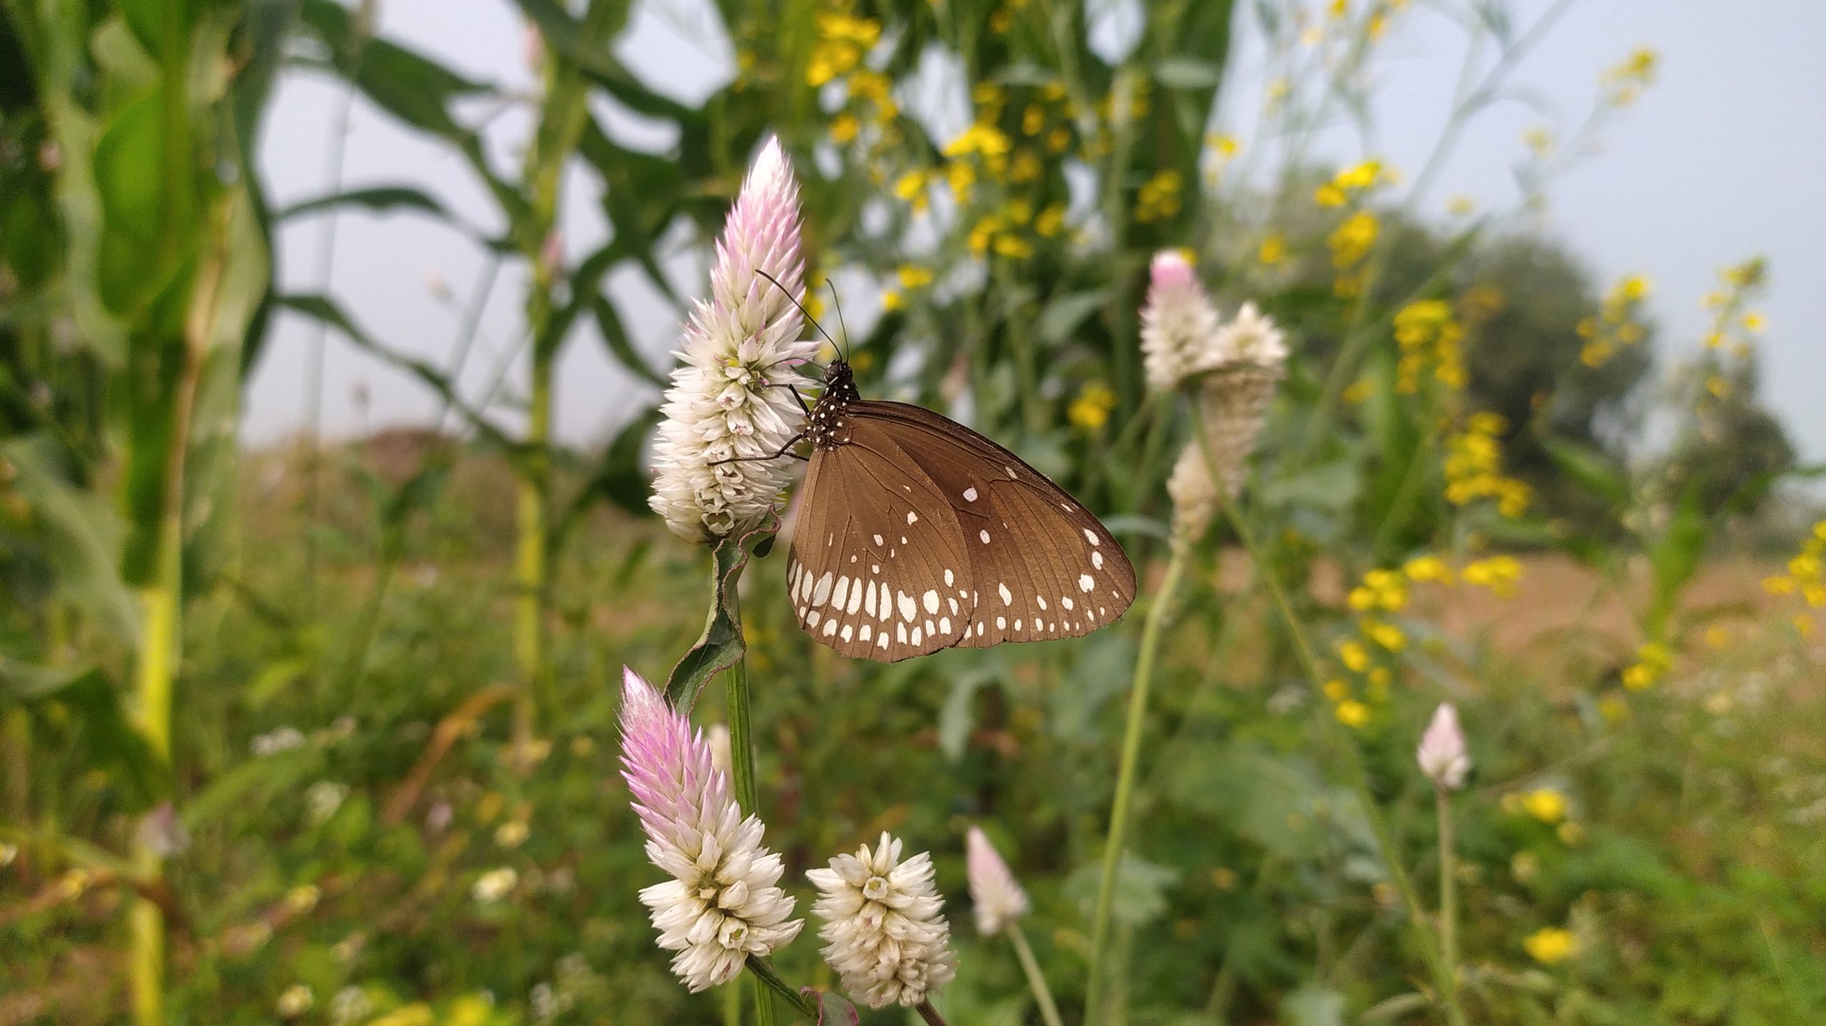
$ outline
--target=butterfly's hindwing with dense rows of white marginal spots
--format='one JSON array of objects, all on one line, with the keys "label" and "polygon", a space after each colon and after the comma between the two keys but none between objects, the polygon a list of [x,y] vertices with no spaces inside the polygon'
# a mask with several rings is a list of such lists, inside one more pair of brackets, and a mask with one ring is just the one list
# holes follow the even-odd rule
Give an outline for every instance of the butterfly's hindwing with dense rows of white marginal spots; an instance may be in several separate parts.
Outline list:
[{"label": "butterfly's hindwing with dense rows of white marginal spots", "polygon": [[959,643],[970,553],[944,493],[880,427],[856,418],[805,473],[787,590],[805,633],[895,663]]}]

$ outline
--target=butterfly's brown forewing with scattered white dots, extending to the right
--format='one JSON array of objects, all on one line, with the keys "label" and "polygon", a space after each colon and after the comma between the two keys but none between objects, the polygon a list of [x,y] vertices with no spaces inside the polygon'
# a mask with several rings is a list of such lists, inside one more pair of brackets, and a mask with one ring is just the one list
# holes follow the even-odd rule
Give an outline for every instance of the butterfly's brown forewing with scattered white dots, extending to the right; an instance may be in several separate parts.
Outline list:
[{"label": "butterfly's brown forewing with scattered white dots, extending to the right", "polygon": [[962,533],[975,619],[955,644],[1079,637],[1116,621],[1136,573],[1108,528],[1046,475],[928,409],[856,402],[937,487]]}]

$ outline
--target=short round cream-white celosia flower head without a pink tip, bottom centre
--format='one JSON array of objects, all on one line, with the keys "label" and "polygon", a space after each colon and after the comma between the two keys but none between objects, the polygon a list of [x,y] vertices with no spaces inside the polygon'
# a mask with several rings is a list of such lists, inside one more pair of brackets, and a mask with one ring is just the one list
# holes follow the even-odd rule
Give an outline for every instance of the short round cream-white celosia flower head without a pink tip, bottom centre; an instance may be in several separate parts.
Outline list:
[{"label": "short round cream-white celosia flower head without a pink tip, bottom centre", "polygon": [[824,960],[849,997],[869,1008],[915,1008],[957,975],[929,854],[902,862],[900,840],[882,832],[875,849],[862,845],[805,876],[820,891],[811,911],[825,920]]}]

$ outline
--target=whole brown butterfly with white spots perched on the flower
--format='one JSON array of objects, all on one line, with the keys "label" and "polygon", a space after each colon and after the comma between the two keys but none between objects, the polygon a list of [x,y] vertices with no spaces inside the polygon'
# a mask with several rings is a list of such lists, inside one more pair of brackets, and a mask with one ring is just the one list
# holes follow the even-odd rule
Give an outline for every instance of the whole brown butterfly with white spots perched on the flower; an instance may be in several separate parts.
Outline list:
[{"label": "whole brown butterfly with white spots perched on the flower", "polygon": [[787,586],[800,626],[858,659],[1077,637],[1134,601],[1110,531],[1008,449],[864,400],[836,360],[811,411]]}]

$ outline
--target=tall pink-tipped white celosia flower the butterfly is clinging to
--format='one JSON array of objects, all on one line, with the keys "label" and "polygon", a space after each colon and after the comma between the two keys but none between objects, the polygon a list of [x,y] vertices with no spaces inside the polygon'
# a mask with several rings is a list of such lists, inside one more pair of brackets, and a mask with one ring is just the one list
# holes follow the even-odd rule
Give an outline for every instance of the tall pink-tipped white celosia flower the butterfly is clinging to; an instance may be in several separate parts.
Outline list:
[{"label": "tall pink-tipped white celosia flower the butterfly is clinging to", "polygon": [[710,299],[692,307],[661,407],[650,504],[685,540],[760,526],[791,478],[789,456],[756,456],[780,453],[803,422],[791,387],[818,343],[800,338],[802,272],[798,183],[769,141],[729,212]]}]

